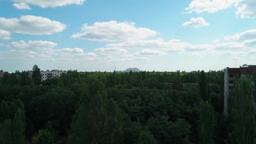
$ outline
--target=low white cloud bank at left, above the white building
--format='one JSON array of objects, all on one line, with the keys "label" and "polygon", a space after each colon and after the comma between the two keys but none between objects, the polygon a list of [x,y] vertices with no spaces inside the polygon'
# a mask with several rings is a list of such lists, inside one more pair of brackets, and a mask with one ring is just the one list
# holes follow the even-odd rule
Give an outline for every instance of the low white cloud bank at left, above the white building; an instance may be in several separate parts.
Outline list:
[{"label": "low white cloud bank at left, above the white building", "polygon": [[53,49],[57,43],[42,40],[16,41],[7,45],[10,51],[0,51],[4,59],[56,61],[94,61],[98,59],[96,53],[85,53],[82,48]]}]

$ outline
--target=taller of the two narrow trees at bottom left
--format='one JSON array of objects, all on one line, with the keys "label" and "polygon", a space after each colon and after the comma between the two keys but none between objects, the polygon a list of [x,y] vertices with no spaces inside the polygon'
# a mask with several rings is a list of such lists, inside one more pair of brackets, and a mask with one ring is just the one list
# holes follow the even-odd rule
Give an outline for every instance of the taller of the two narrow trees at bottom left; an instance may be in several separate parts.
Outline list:
[{"label": "taller of the two narrow trees at bottom left", "polygon": [[14,144],[23,144],[24,143],[24,132],[25,132],[25,117],[24,111],[18,109],[15,113],[13,122],[12,122],[12,140]]}]

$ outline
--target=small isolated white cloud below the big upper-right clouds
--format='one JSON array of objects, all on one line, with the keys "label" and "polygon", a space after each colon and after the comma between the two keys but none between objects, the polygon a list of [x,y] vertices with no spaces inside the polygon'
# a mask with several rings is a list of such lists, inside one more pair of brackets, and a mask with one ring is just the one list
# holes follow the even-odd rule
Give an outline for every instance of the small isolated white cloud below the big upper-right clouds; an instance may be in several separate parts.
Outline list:
[{"label": "small isolated white cloud below the big upper-right clouds", "polygon": [[199,28],[203,26],[209,26],[210,24],[205,21],[203,17],[191,18],[190,21],[186,21],[182,24],[182,27],[194,27]]}]

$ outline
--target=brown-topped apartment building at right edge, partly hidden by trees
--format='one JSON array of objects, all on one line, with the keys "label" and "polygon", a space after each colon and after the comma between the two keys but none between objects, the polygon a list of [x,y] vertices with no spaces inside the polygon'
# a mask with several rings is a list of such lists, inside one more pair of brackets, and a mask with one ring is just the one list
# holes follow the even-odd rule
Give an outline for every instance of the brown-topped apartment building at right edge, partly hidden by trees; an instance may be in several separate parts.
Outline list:
[{"label": "brown-topped apartment building at right edge, partly hidden by trees", "polygon": [[[256,72],[256,65],[245,65],[246,67],[229,68],[224,70],[224,115],[228,115],[228,97],[234,87],[235,77],[250,77],[253,78],[253,73]],[[252,85],[254,86],[253,82]]]}]

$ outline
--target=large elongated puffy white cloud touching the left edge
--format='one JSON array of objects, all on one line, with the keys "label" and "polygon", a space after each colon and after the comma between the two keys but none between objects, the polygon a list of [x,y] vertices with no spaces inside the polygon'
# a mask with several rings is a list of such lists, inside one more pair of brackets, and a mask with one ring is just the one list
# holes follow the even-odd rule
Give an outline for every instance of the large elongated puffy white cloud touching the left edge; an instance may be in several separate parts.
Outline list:
[{"label": "large elongated puffy white cloud touching the left edge", "polygon": [[52,35],[62,32],[67,25],[40,16],[21,16],[19,19],[0,17],[0,29],[29,35]]}]

